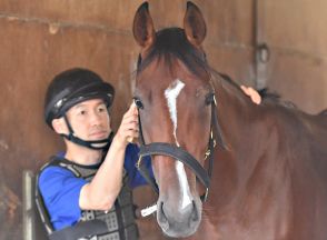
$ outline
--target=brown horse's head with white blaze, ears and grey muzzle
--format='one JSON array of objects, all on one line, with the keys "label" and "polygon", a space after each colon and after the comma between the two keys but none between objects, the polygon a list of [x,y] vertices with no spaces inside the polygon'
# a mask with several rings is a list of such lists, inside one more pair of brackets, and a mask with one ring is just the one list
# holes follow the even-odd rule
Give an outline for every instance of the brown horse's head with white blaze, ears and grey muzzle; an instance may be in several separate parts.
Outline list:
[{"label": "brown horse's head with white blaze, ears and grey muzzle", "polygon": [[[135,98],[143,140],[159,143],[151,151],[159,187],[157,220],[166,234],[187,237],[201,221],[204,191],[197,186],[198,167],[189,168],[180,160],[187,152],[204,166],[211,126],[212,87],[201,48],[206,23],[199,9],[188,2],[184,29],[156,32],[143,3],[135,16],[133,36],[141,46]],[[176,149],[185,152],[176,154]]]}]

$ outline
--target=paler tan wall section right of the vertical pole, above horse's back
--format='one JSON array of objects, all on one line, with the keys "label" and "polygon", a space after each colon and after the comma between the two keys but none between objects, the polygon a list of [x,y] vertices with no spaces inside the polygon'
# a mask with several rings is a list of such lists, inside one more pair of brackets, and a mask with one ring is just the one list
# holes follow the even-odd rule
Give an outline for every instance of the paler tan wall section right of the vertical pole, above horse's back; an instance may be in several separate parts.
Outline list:
[{"label": "paler tan wall section right of the vertical pole, above horse's back", "polygon": [[264,0],[261,7],[271,52],[267,86],[309,113],[327,108],[327,1]]}]

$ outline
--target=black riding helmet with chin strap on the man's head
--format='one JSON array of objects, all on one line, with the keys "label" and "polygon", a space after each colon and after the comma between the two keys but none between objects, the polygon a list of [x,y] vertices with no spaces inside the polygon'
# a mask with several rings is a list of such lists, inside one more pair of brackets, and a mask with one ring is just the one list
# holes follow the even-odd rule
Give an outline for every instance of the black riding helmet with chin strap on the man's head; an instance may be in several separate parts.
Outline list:
[{"label": "black riding helmet with chin strap on the man's head", "polygon": [[52,129],[52,120],[63,117],[70,133],[62,137],[91,149],[107,148],[110,139],[87,141],[76,137],[66,112],[77,103],[89,99],[103,99],[109,109],[113,97],[113,87],[105,82],[97,73],[81,68],[69,69],[56,76],[49,84],[44,101],[44,120]]}]

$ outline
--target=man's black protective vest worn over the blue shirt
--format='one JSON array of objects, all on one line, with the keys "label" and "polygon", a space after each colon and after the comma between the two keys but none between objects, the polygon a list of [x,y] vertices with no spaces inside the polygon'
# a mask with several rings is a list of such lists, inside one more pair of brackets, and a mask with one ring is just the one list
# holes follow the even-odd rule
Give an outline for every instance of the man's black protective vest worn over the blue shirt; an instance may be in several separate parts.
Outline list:
[{"label": "man's black protective vest worn over the blue shirt", "polygon": [[[66,159],[52,157],[40,172],[49,166],[57,166],[71,171],[77,178],[90,180],[96,174],[98,167],[76,164]],[[40,174],[39,172],[39,174]],[[123,173],[122,188],[115,206],[109,211],[82,211],[80,221],[73,226],[54,231],[49,213],[39,191],[39,174],[36,179],[36,203],[50,240],[135,240],[138,239],[138,229],[135,222],[135,207],[132,193],[128,186],[128,176]]]}]

